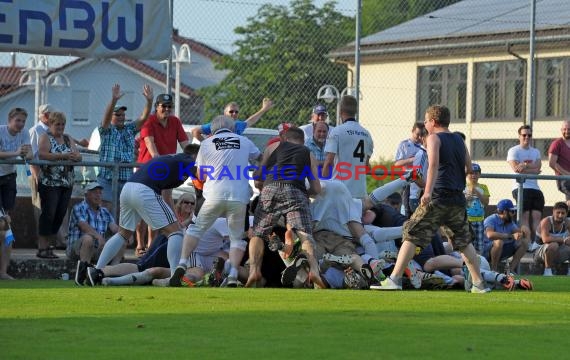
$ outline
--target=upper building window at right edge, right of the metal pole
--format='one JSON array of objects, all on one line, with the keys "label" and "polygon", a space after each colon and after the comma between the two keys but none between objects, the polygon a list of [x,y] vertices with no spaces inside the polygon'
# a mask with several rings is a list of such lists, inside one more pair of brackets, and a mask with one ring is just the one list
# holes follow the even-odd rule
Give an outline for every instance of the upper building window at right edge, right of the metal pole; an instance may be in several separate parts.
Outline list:
[{"label": "upper building window at right edge, right of the metal pole", "polygon": [[536,115],[562,119],[570,114],[568,102],[570,69],[568,59],[538,60]]}]

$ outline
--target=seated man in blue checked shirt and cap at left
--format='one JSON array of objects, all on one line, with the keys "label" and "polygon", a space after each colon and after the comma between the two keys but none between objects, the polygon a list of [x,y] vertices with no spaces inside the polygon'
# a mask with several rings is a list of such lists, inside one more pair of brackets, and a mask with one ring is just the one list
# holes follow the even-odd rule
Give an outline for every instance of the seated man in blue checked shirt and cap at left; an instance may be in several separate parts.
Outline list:
[{"label": "seated man in blue checked shirt and cap at left", "polygon": [[[115,234],[119,227],[113,215],[102,203],[103,186],[92,182],[85,186],[85,198],[73,206],[69,217],[69,236],[67,237],[67,257],[77,260],[75,283],[83,286],[87,277],[87,268],[96,261],[105,245],[105,235]],[[115,257],[119,262],[122,253]]]}]

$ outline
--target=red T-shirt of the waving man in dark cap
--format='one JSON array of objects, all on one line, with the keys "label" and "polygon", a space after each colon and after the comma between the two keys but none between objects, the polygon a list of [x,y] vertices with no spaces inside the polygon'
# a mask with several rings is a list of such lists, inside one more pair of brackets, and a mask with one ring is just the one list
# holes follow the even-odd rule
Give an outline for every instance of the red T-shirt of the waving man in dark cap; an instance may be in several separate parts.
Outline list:
[{"label": "red T-shirt of the waving man in dark cap", "polygon": [[147,136],[154,137],[154,144],[159,155],[176,154],[178,143],[188,141],[188,135],[184,132],[179,118],[170,115],[166,126],[162,126],[156,114],[152,114],[141,128],[139,156],[137,159],[140,163],[145,163],[152,159],[144,142]]}]

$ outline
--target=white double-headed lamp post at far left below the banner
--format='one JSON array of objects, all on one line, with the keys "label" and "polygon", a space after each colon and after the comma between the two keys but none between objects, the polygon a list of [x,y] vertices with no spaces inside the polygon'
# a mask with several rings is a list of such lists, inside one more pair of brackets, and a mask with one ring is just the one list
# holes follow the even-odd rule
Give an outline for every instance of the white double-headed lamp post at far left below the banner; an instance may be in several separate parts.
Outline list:
[{"label": "white double-headed lamp post at far left below the banner", "polygon": [[31,56],[28,59],[28,65],[22,71],[24,74],[20,77],[19,84],[34,88],[34,113],[36,114],[34,124],[37,124],[40,102],[47,102],[47,88],[52,86],[56,89],[63,89],[71,84],[64,74],[53,73],[45,77],[49,72],[48,58],[45,55]]}]

